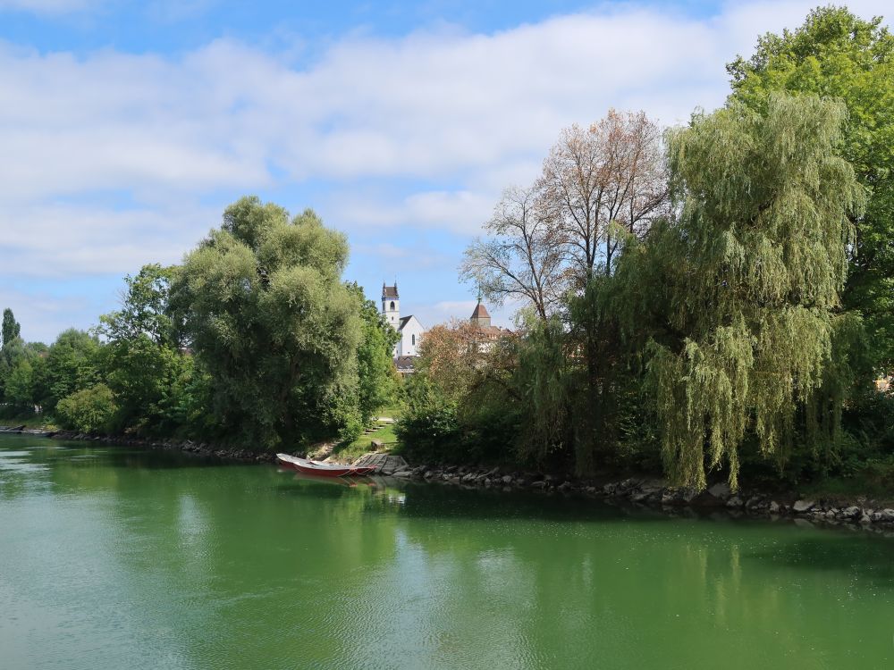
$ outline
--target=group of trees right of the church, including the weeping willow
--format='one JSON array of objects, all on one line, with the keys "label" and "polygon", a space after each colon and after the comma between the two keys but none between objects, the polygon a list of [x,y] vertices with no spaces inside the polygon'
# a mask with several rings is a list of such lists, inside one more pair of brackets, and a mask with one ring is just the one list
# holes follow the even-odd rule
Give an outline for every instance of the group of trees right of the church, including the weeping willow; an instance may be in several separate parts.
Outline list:
[{"label": "group of trees right of the church, including the weeping willow", "polygon": [[894,38],[828,7],[728,70],[722,109],[574,126],[505,192],[462,273],[519,330],[428,333],[409,448],[894,487]]}]

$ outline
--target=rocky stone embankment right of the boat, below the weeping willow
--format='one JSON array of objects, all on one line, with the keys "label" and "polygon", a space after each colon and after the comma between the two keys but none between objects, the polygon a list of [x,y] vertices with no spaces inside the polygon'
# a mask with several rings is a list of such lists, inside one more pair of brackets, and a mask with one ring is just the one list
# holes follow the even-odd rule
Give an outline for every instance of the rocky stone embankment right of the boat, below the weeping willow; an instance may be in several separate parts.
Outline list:
[{"label": "rocky stone embankment right of the boat, below the weeping willow", "polygon": [[699,493],[694,489],[671,487],[664,480],[636,477],[597,485],[595,482],[550,474],[520,473],[501,468],[480,470],[459,465],[446,467],[420,465],[393,473],[392,476],[467,487],[577,493],[593,498],[663,508],[667,512],[679,508],[704,509],[705,512],[721,509],[726,515],[733,517],[754,516],[771,519],[788,517],[799,525],[822,523],[862,526],[867,530],[894,534],[894,508],[875,504],[865,498],[857,498],[852,503],[842,504],[822,499],[797,498],[794,494],[774,496],[761,491],[744,490],[734,494],[726,482],[716,483]]}]

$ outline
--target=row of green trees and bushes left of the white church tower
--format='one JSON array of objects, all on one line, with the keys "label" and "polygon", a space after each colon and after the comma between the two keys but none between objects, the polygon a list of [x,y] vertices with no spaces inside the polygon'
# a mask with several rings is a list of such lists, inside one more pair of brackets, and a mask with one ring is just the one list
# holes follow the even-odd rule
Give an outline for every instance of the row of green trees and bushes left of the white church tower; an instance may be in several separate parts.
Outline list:
[{"label": "row of green trees and bushes left of the white church tower", "polygon": [[122,308],[92,331],[25,343],[7,309],[3,411],[256,449],[350,440],[398,381],[396,334],[342,281],[347,259],[310,210],[242,198],[183,264],[128,277]]}]

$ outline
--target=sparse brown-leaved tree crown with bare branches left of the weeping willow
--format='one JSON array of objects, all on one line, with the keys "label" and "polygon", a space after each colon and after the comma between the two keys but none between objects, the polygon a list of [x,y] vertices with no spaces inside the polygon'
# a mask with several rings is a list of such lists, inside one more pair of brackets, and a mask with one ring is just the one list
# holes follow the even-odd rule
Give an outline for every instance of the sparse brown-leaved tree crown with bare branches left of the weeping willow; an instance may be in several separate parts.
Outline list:
[{"label": "sparse brown-leaved tree crown with bare branches left of the weeping willow", "polygon": [[569,289],[611,274],[621,231],[642,238],[668,202],[661,129],[643,112],[611,110],[562,130],[540,178],[503,192],[460,276],[493,304],[519,302],[545,322]]}]

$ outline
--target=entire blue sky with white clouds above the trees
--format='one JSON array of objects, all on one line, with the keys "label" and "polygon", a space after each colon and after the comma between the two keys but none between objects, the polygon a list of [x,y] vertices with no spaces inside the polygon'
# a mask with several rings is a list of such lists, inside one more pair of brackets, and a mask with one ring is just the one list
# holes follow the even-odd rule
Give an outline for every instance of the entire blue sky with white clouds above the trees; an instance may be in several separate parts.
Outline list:
[{"label": "entire blue sky with white clouds above the trees", "polygon": [[368,297],[465,318],[463,248],[563,127],[721,105],[724,64],[814,4],[0,0],[0,307],[87,328],[257,194],[345,231]]}]

